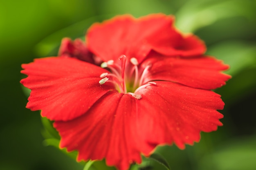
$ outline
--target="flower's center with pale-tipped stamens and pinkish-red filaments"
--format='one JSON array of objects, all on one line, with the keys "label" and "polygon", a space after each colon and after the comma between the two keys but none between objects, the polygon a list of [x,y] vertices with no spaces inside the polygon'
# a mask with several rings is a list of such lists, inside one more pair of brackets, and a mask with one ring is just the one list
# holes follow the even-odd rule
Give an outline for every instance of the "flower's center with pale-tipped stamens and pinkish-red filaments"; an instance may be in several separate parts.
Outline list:
[{"label": "flower's center with pale-tipped stamens and pinkish-red filaments", "polygon": [[109,60],[101,64],[102,68],[107,68],[111,73],[102,73],[99,84],[102,85],[106,82],[111,82],[115,85],[115,88],[119,93],[127,93],[141,99],[141,95],[136,92],[145,88],[146,86],[156,85],[155,82],[144,83],[146,75],[151,67],[151,64],[147,64],[144,68],[138,67],[139,63],[136,58],[131,58],[130,63],[126,63],[127,57],[121,55],[119,57],[119,63]]}]

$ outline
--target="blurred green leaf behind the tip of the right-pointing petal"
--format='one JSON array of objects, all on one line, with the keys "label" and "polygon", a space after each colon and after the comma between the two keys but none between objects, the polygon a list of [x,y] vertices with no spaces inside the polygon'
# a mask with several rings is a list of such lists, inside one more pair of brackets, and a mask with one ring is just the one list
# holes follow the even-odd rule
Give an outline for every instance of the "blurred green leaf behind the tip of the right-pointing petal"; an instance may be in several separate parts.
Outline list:
[{"label": "blurred green leaf behind the tip of the right-pointing petal", "polygon": [[226,41],[218,43],[207,51],[230,69],[225,73],[232,76],[226,86],[218,88],[225,103],[232,103],[253,93],[256,89],[256,44],[244,41]]}]

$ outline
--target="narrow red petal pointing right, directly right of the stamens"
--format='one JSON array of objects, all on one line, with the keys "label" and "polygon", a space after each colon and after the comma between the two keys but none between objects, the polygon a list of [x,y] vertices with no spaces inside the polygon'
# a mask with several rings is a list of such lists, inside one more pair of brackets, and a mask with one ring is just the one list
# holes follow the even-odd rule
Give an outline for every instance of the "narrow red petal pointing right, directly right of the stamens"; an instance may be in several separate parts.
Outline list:
[{"label": "narrow red petal pointing right, directly right of the stamens", "polygon": [[229,68],[213,57],[176,58],[153,54],[145,63],[153,63],[145,82],[165,80],[202,89],[215,89],[225,85],[229,75],[221,73]]}]

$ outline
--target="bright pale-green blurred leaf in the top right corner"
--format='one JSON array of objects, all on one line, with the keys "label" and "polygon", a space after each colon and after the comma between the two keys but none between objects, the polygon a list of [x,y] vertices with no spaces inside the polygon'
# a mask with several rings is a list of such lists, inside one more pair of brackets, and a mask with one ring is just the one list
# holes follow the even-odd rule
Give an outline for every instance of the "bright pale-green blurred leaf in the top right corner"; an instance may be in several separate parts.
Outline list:
[{"label": "bright pale-green blurred leaf in the top right corner", "polygon": [[254,20],[255,8],[254,0],[190,0],[177,11],[176,26],[184,32],[195,32],[225,18],[243,16]]}]

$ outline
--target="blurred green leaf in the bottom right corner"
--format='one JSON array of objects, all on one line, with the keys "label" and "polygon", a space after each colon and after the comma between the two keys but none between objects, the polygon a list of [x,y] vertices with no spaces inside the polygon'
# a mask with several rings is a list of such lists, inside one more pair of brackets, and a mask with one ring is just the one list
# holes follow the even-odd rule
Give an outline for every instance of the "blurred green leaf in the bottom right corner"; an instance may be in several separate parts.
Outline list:
[{"label": "blurred green leaf in the bottom right corner", "polygon": [[255,170],[256,138],[233,139],[219,150],[206,155],[199,170]]}]

